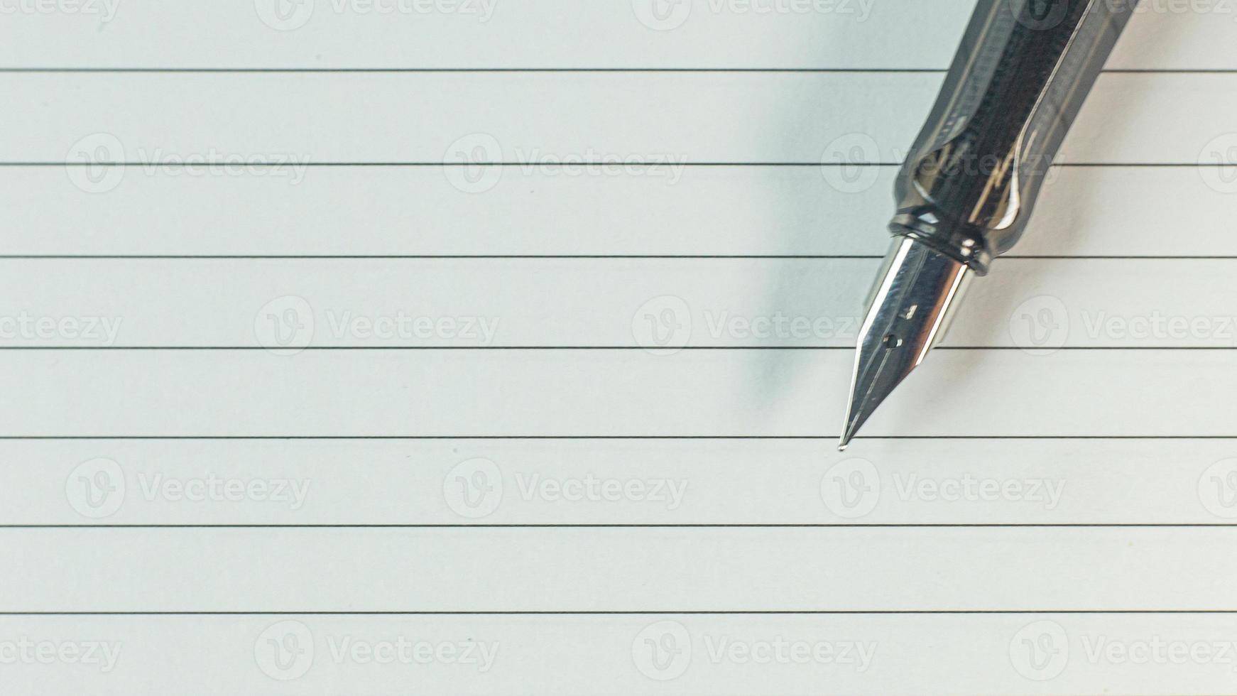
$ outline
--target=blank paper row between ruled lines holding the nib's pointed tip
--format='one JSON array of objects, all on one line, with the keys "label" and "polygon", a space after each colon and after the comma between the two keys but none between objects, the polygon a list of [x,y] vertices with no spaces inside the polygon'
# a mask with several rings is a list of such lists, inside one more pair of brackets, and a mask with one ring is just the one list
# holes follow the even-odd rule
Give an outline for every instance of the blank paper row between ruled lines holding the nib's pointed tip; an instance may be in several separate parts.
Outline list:
[{"label": "blank paper row between ruled lines holding the nib's pointed tip", "polygon": [[[1226,350],[934,357],[940,367],[905,383],[908,396],[873,415],[868,435],[1233,435],[1232,419],[1207,401],[1237,388]],[[0,412],[4,433],[26,436],[834,439],[844,404],[833,394],[845,394],[851,370],[846,350],[776,349],[327,350],[293,360],[263,350],[21,350],[6,360],[6,387],[31,396]],[[1145,375],[1132,381],[1132,371]],[[244,401],[238,384],[247,386]],[[1080,384],[1095,387],[1080,396]],[[1017,417],[1002,389],[1019,394]],[[924,413],[923,403],[943,399],[948,409]],[[831,445],[820,443],[823,454]]]}]

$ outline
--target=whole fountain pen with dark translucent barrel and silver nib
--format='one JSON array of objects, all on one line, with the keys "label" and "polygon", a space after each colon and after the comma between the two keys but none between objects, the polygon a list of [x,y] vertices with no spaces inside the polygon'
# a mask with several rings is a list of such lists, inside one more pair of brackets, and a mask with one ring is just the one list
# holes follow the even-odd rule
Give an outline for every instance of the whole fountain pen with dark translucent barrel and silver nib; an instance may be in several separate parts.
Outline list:
[{"label": "whole fountain pen with dark translucent barrel and silver nib", "polygon": [[1022,236],[1137,0],[978,0],[894,187],[839,449],[944,336],[966,286]]}]

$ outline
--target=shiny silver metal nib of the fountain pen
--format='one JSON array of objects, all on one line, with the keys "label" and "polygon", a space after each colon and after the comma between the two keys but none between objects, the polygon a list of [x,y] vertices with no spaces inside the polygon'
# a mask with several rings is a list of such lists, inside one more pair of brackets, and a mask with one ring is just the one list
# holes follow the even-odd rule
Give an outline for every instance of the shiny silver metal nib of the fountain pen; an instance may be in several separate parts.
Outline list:
[{"label": "shiny silver metal nib of the fountain pen", "polygon": [[949,328],[966,265],[909,237],[897,237],[872,287],[858,333],[850,408],[837,445],[845,450],[881,402],[923,362]]}]

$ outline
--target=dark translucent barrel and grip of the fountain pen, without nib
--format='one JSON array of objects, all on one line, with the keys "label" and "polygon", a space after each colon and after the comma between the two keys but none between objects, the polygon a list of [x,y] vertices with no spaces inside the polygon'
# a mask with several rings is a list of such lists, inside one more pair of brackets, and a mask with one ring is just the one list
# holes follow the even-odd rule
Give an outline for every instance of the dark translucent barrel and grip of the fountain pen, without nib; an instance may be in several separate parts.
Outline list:
[{"label": "dark translucent barrel and grip of the fountain pen, without nib", "polygon": [[889,225],[980,274],[1017,244],[1137,0],[978,0]]}]

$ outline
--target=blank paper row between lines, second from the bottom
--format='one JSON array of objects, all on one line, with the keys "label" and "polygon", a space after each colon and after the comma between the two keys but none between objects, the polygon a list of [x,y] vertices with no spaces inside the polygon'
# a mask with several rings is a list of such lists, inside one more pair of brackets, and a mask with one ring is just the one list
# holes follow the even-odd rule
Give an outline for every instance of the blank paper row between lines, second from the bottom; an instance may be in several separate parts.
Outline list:
[{"label": "blank paper row between lines, second from the bottom", "polygon": [[[5,579],[7,592],[35,609],[54,598],[69,611],[179,608],[174,597],[135,586],[134,576],[192,585],[203,608],[228,602],[234,611],[335,606],[381,612],[408,597],[430,612],[534,612],[548,602],[584,612],[709,612],[719,603],[748,611],[1192,609],[1231,603],[1232,586],[1211,577],[1237,565],[1231,556],[1196,565],[1196,548],[1181,544],[1174,529],[1143,532],[1137,543],[1119,529],[557,529],[542,532],[536,544],[518,529],[15,534],[22,541],[14,539],[9,548],[24,570]],[[1228,534],[1207,529],[1194,538],[1202,546],[1220,545]],[[1069,541],[1054,543],[1061,539]],[[53,567],[64,554],[94,558],[92,576],[37,570]],[[839,565],[837,556],[849,562]],[[564,564],[565,558],[574,562]],[[1163,564],[1149,569],[1147,558]],[[323,559],[330,559],[330,572],[323,572]],[[203,576],[198,562],[210,564],[213,572]],[[983,576],[964,582],[954,574],[955,565],[976,564],[983,564]],[[1060,569],[1060,582],[1032,588],[1021,581],[1045,564]],[[477,574],[479,565],[506,569],[506,581]],[[558,572],[541,571],[550,566]],[[254,567],[270,572],[254,576]],[[1134,574],[1141,584],[1123,584]],[[907,592],[912,575],[918,582]],[[736,576],[747,582],[731,582]],[[314,582],[298,582],[302,577]]]}]

